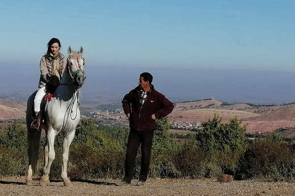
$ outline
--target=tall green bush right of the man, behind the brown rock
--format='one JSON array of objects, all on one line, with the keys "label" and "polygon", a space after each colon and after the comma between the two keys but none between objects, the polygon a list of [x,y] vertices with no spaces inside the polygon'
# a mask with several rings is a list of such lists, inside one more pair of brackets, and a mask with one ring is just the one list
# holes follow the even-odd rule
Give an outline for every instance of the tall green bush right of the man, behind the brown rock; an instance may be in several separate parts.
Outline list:
[{"label": "tall green bush right of the man, behind the brown rock", "polygon": [[216,177],[221,173],[236,175],[238,161],[247,147],[246,128],[236,118],[222,123],[217,115],[204,122],[196,132],[196,149],[203,154],[203,177]]}]

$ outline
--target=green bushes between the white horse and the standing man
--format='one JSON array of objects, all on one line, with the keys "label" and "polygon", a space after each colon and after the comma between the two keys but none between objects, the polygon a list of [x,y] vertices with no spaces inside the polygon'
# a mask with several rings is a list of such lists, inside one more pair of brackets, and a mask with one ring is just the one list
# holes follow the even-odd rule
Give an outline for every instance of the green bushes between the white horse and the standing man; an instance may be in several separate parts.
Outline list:
[{"label": "green bushes between the white horse and the standing man", "polygon": [[82,121],[82,128],[76,131],[70,147],[69,176],[82,179],[123,176],[125,136],[122,135],[125,133],[120,134],[118,128],[114,132],[110,129],[97,127],[89,119]]}]

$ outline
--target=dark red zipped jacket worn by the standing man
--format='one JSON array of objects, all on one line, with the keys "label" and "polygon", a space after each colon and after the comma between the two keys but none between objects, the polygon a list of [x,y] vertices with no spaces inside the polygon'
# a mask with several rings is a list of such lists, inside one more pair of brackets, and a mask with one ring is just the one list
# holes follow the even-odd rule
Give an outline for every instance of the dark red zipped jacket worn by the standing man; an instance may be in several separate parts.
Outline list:
[{"label": "dark red zipped jacket worn by the standing man", "polygon": [[151,91],[147,92],[148,97],[141,110],[141,88],[139,86],[126,94],[122,100],[124,113],[126,115],[130,114],[129,126],[131,129],[137,131],[156,129],[157,124],[155,123],[155,120],[151,118],[151,115],[154,114],[156,119],[159,119],[167,116],[174,109],[174,105],[170,100],[157,92],[153,85],[150,86]]}]

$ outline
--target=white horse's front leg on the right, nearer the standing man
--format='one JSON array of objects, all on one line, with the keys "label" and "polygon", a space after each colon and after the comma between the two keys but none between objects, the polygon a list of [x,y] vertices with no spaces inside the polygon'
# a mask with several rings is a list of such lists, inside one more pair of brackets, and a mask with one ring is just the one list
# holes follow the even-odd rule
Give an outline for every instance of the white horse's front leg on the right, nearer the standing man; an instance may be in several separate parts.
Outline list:
[{"label": "white horse's front leg on the right, nearer the standing man", "polygon": [[76,129],[70,131],[67,135],[63,136],[63,153],[62,153],[62,166],[61,166],[61,177],[63,179],[63,184],[66,187],[71,187],[72,183],[67,177],[67,162],[69,159],[69,148],[74,139]]}]

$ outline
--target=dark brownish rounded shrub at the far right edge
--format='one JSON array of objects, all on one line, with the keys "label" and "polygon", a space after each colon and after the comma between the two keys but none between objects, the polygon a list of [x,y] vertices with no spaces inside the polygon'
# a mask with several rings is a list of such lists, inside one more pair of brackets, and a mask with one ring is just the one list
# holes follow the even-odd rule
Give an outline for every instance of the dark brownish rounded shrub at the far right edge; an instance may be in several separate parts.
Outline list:
[{"label": "dark brownish rounded shrub at the far right edge", "polygon": [[295,177],[295,145],[257,140],[240,161],[239,177],[290,180]]}]

